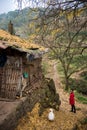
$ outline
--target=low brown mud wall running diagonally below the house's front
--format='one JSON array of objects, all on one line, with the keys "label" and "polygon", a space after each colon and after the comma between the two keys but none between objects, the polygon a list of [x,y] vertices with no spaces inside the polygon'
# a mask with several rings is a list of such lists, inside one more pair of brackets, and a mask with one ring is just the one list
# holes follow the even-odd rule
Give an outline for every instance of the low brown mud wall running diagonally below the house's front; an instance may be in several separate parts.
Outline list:
[{"label": "low brown mud wall running diagonally below the house's front", "polygon": [[14,130],[17,126],[18,120],[26,114],[26,112],[31,111],[35,103],[39,101],[39,89],[34,91],[31,95],[20,100],[19,104],[0,124],[0,130]]}]

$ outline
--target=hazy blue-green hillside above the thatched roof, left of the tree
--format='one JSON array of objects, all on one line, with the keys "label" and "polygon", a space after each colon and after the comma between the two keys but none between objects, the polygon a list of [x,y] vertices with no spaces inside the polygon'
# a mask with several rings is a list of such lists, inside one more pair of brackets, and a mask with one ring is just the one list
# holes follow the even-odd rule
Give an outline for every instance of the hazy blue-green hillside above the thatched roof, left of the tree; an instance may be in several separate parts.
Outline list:
[{"label": "hazy blue-green hillside above the thatched roof, left of the tree", "polygon": [[33,16],[29,14],[29,8],[25,8],[22,11],[10,11],[7,14],[0,15],[0,29],[8,30],[8,23],[11,20],[14,25],[14,30],[17,35],[21,37],[26,36],[26,29],[28,27],[29,19]]}]

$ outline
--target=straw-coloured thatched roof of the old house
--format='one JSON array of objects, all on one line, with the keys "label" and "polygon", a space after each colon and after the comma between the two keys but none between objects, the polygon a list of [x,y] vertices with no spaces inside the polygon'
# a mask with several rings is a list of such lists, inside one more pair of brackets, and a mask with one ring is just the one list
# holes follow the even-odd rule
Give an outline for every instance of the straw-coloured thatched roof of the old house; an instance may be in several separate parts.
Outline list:
[{"label": "straw-coloured thatched roof of the old house", "polygon": [[29,43],[18,36],[11,35],[4,30],[0,30],[0,48],[6,49],[7,47],[15,48],[21,52],[30,53],[33,50],[45,51],[45,48],[37,44]]}]

